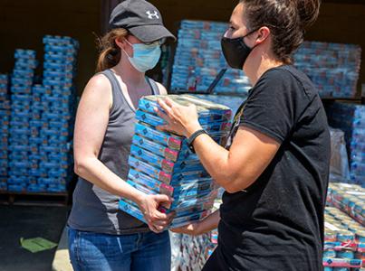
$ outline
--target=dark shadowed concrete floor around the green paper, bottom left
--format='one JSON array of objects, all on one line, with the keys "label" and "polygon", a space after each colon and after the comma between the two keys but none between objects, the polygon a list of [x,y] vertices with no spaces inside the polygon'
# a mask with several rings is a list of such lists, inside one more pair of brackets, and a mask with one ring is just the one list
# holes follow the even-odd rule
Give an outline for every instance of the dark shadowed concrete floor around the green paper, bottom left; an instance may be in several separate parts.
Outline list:
[{"label": "dark shadowed concrete floor around the green paper, bottom left", "polygon": [[42,237],[58,243],[69,207],[0,205],[0,271],[50,271],[57,248],[31,253],[20,238]]}]

